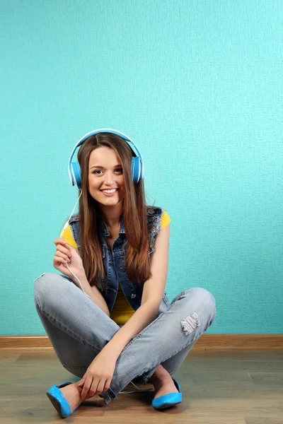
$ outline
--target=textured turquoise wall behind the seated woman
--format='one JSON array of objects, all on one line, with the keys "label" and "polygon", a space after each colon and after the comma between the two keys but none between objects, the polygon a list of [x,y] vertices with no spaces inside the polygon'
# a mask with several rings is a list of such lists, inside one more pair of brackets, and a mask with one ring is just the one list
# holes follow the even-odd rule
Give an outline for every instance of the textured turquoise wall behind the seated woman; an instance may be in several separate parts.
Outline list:
[{"label": "textured turquoise wall behind the seated woman", "polygon": [[282,333],[282,1],[10,0],[0,19],[0,334],[45,334],[33,280],[100,127],[137,143],[171,216],[170,300],[200,286],[208,333]]}]

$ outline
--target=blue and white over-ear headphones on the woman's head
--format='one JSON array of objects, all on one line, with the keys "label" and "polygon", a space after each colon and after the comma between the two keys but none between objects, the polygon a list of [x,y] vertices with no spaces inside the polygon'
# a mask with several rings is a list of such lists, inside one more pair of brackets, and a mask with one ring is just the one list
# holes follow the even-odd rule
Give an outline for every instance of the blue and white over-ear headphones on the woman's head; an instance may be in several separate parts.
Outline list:
[{"label": "blue and white over-ear headphones on the woman's head", "polygon": [[112,134],[115,134],[116,136],[122,137],[127,143],[129,144],[129,147],[132,149],[132,152],[135,156],[132,156],[132,179],[133,182],[137,183],[139,180],[144,178],[144,161],[142,160],[141,153],[139,152],[139,149],[134,144],[134,141],[132,141],[126,134],[123,134],[120,131],[117,131],[116,129],[111,128],[100,128],[100,129],[94,129],[93,131],[89,132],[85,136],[83,136],[78,143],[76,143],[76,146],[74,146],[73,151],[71,152],[71,156],[69,158],[69,164],[68,164],[68,173],[69,173],[69,179],[71,181],[71,185],[74,186],[75,184],[79,189],[81,189],[81,168],[79,166],[79,162],[71,162],[74,153],[76,151],[76,148],[81,146],[88,137],[93,136],[95,134],[98,134],[100,132],[110,132]]}]

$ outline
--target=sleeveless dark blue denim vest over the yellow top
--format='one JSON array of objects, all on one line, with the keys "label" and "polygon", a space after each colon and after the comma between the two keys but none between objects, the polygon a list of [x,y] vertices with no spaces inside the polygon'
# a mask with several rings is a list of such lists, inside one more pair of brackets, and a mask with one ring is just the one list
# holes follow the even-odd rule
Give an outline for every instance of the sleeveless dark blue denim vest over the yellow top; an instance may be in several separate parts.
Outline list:
[{"label": "sleeveless dark blue denim vest over the yellow top", "polygon": [[[161,230],[162,209],[154,206],[147,206],[146,216],[149,230],[149,254],[152,254],[152,252],[154,252],[156,235],[158,235],[158,232]],[[72,217],[69,220],[69,225],[71,226],[74,240],[76,241],[76,245],[78,246],[80,252],[79,218],[77,216]],[[125,233],[123,216],[120,221],[119,235],[112,245],[112,252],[104,240],[104,236],[109,235],[110,232],[107,228],[107,225],[105,224],[103,218],[101,218],[98,236],[100,239],[101,254],[103,258],[103,266],[106,278],[100,279],[97,285],[98,290],[100,290],[103,298],[105,298],[105,302],[107,303],[108,309],[111,312],[117,297],[119,281],[125,298],[129,302],[129,305],[132,306],[133,310],[136,311],[141,306],[141,296],[144,283],[138,284],[134,281],[129,281],[127,276],[127,250],[125,249],[125,241],[127,240],[127,237]],[[166,292],[164,292],[161,305],[159,306],[158,314],[165,312],[168,309],[168,306],[168,298]]]}]

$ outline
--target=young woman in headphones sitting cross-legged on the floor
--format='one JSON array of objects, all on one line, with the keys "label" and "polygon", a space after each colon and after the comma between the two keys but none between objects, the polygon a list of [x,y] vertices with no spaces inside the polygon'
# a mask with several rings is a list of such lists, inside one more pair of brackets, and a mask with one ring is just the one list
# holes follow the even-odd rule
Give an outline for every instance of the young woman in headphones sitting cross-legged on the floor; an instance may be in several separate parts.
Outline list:
[{"label": "young woman in headphones sitting cross-legged on the floor", "polygon": [[190,288],[168,302],[170,218],[146,206],[144,165],[129,137],[91,131],[71,158],[81,194],[79,213],[54,240],[53,266],[64,275],[42,274],[34,296],[60,362],[81,379],[54,384],[47,396],[65,418],[95,394],[109,404],[134,380],[154,385],[154,408],[180,404],[171,376],[214,322],[214,297]]}]

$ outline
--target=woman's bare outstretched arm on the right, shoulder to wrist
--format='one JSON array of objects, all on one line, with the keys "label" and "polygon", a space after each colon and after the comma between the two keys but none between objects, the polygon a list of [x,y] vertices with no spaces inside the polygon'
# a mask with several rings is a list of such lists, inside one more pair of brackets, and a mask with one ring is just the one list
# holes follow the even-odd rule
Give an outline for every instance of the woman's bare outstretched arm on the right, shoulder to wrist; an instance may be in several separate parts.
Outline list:
[{"label": "woman's bare outstretched arm on the right, shoulder to wrist", "polygon": [[169,237],[170,224],[166,225],[156,237],[155,250],[151,258],[152,276],[144,283],[141,306],[101,352],[111,353],[118,358],[129,341],[156,318],[166,285]]}]

